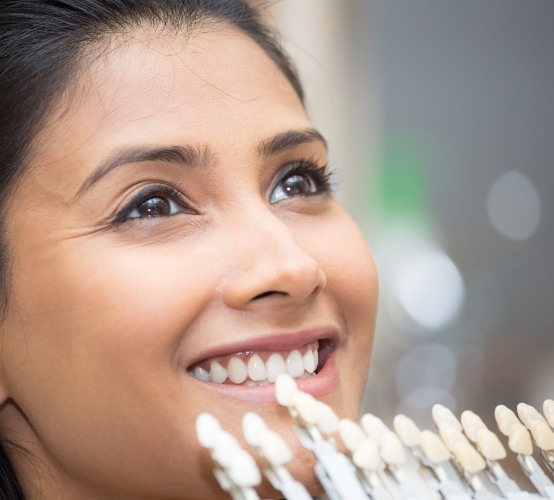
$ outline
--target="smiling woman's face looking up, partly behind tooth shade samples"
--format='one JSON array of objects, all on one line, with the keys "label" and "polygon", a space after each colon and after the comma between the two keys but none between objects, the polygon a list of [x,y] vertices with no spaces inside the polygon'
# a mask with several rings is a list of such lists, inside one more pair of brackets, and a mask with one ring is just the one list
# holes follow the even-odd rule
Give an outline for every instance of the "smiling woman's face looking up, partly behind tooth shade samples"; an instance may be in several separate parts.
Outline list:
[{"label": "smiling woman's face looking up, partly behind tooth shade samples", "polygon": [[[30,497],[38,474],[48,498],[216,498],[206,411],[238,436],[254,410],[299,449],[271,383],[216,383],[254,355],[263,379],[319,343],[300,388],[356,416],[375,270],[322,138],[252,40],[115,40],[32,153],[7,219],[0,410],[38,456],[14,457]],[[291,470],[312,484],[305,457]]]}]

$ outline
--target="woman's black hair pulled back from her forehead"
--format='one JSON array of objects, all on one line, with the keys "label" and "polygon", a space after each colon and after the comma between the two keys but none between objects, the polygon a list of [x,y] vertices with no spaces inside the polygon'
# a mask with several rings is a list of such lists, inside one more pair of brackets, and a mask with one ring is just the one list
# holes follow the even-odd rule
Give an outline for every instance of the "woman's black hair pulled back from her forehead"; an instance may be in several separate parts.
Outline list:
[{"label": "woman's black hair pulled back from her forehead", "polygon": [[[227,22],[251,37],[303,100],[288,58],[247,0],[0,0],[0,313],[10,281],[3,236],[10,194],[33,138],[91,47],[140,25],[187,34],[207,21]],[[0,500],[23,498],[2,448],[7,443],[0,440]]]}]

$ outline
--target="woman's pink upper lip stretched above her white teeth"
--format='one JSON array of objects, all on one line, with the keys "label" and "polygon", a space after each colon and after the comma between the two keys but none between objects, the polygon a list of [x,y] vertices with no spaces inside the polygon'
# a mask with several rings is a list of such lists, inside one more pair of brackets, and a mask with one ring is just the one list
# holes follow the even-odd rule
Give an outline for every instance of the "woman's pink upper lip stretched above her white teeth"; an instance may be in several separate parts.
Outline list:
[{"label": "woman's pink upper lip stretched above her white teeth", "polygon": [[283,332],[265,335],[236,342],[227,342],[203,351],[196,356],[189,366],[203,361],[229,356],[243,352],[256,351],[291,351],[299,349],[317,340],[327,340],[333,344],[339,341],[339,332],[334,327],[321,327],[297,332]]}]

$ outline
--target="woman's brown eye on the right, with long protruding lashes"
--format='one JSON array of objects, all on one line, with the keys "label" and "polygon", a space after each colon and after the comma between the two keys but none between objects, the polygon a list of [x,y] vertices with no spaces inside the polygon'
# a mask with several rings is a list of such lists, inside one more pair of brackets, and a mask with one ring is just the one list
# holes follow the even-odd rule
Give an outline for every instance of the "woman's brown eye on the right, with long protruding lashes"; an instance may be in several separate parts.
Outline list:
[{"label": "woman's brown eye on the right, with long protruding lashes", "polygon": [[270,203],[278,203],[299,196],[325,194],[331,191],[331,176],[327,166],[317,167],[299,162],[285,168],[286,173],[271,191]]}]

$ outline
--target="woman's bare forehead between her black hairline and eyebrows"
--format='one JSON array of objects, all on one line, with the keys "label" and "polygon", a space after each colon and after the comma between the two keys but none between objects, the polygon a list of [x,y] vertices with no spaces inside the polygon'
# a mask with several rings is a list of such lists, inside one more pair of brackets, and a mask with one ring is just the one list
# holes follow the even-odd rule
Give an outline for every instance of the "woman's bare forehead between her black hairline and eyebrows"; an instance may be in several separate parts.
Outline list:
[{"label": "woman's bare forehead between her black hairline and eyebrows", "polygon": [[84,65],[48,124],[35,148],[42,166],[136,141],[223,143],[235,130],[236,143],[308,120],[263,49],[218,24],[186,37],[147,29],[114,37]]}]

